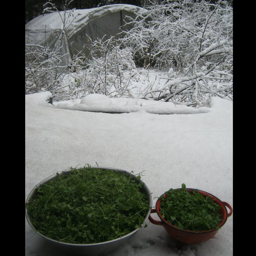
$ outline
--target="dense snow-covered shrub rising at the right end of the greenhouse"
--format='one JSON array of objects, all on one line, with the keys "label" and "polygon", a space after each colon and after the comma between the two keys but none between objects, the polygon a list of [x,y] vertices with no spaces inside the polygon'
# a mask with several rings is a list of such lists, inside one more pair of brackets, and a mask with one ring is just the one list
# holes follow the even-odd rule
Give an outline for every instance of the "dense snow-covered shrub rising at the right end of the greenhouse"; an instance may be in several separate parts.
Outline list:
[{"label": "dense snow-covered shrub rising at the right end of the greenhouse", "polygon": [[204,48],[231,39],[232,13],[226,1],[161,1],[147,6],[144,18],[126,17],[132,29],[122,32],[120,43],[133,49],[138,63],[183,68]]}]

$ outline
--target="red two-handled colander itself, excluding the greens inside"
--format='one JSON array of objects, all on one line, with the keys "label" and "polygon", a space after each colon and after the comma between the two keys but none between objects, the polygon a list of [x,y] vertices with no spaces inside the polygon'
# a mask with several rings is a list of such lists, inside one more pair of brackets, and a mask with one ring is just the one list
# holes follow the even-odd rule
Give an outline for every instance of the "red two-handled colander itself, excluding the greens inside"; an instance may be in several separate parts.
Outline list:
[{"label": "red two-handled colander itself, excluding the greens inside", "polygon": [[[180,189],[181,188],[177,188],[175,190],[180,190]],[[190,193],[193,193],[196,189],[186,188],[186,190]],[[172,238],[174,238],[176,241],[179,241],[179,242],[182,242],[185,244],[199,244],[201,242],[209,240],[226,223],[227,218],[232,215],[233,209],[230,206],[230,204],[228,204],[227,202],[221,201],[216,196],[214,196],[208,192],[205,192],[202,190],[198,190],[198,192],[204,196],[212,197],[214,202],[221,206],[219,214],[220,214],[220,218],[222,218],[222,222],[218,225],[218,228],[214,228],[211,230],[205,230],[205,231],[190,231],[190,230],[184,230],[184,229],[178,228],[178,227],[170,224],[160,214],[159,204],[161,202],[161,199],[160,199],[161,196],[156,201],[156,208],[151,210],[151,213],[150,213],[150,216],[148,219],[153,224],[163,226],[164,229],[168,232],[168,234],[170,234],[170,236],[172,236]],[[166,194],[162,194],[162,196],[165,197]],[[230,212],[228,212],[228,210],[226,209],[226,206],[229,208]],[[160,218],[160,221],[152,218],[152,216],[151,216],[152,213],[156,213],[158,215],[158,217]]]}]

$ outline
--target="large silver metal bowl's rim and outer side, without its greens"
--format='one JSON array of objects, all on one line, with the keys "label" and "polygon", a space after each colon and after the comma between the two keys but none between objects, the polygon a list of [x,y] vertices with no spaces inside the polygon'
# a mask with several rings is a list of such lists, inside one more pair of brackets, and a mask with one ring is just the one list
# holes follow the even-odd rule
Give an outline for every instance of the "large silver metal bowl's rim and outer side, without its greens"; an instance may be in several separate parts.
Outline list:
[{"label": "large silver metal bowl's rim and outer side, without its greens", "polygon": [[[114,172],[120,172],[122,174],[131,175],[132,178],[136,179],[136,176],[134,174],[132,174],[128,171],[125,171],[125,170],[120,170],[120,169],[116,169],[116,168],[108,168],[108,167],[100,167],[100,166],[93,166],[93,168],[100,168],[101,170],[113,170]],[[72,170],[65,170],[65,171],[58,172],[58,173],[62,174],[62,175],[67,175],[70,172],[72,172]],[[45,184],[48,181],[53,180],[55,178],[56,178],[56,174],[53,174],[53,175],[49,176],[48,178],[42,180],[40,183],[38,183],[32,189],[30,194],[28,195],[26,203],[29,202],[30,200],[32,200],[35,197],[36,190],[37,190],[38,187],[42,186],[43,184]],[[136,182],[142,183],[142,180],[137,180]],[[148,204],[148,212],[147,212],[146,217],[144,219],[144,224],[142,224],[141,227],[143,227],[146,223],[146,220],[148,220],[148,217],[150,215],[151,208],[152,208],[152,197],[151,197],[150,190],[148,189],[146,184],[144,184],[142,186],[142,193],[144,193],[148,197],[149,204]],[[34,225],[32,224],[32,221],[31,221],[30,216],[28,214],[27,208],[26,208],[26,219],[28,221],[28,224],[31,226],[31,228],[37,234],[39,234],[40,236],[45,238],[48,242],[52,243],[54,246],[58,247],[60,250],[64,250],[64,251],[72,253],[72,254],[84,255],[84,256],[104,254],[104,253],[116,250],[117,248],[120,248],[121,246],[123,246],[141,228],[141,227],[137,228],[137,229],[133,230],[132,232],[126,234],[125,236],[122,236],[120,238],[110,240],[110,241],[107,241],[107,242],[100,242],[100,243],[95,243],[95,244],[69,244],[69,243],[59,242],[57,240],[53,240],[51,238],[48,238],[48,237],[44,236],[40,232],[38,232],[36,230],[36,228],[34,227]]]}]

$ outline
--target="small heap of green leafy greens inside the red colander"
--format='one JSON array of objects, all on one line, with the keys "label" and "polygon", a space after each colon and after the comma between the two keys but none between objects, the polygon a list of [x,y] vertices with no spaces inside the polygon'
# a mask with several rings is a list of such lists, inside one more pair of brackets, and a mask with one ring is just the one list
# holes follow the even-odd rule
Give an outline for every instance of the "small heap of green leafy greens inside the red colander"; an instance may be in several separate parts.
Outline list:
[{"label": "small heap of green leafy greens inside the red colander", "polygon": [[195,190],[189,193],[183,183],[180,190],[170,189],[161,196],[160,214],[170,224],[190,231],[205,231],[217,228],[222,219],[221,208],[210,196]]}]

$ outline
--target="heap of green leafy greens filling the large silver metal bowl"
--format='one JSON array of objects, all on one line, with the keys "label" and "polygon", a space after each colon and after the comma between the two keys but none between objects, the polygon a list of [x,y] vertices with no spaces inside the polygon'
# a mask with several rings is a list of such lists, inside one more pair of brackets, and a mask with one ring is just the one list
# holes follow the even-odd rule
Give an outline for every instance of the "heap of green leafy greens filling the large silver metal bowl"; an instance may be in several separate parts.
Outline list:
[{"label": "heap of green leafy greens filling the large silver metal bowl", "polygon": [[149,202],[140,192],[140,175],[134,179],[90,166],[56,175],[26,204],[32,223],[44,236],[92,244],[119,238],[144,224]]}]

